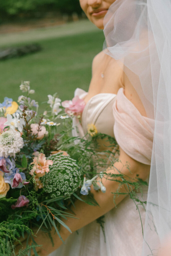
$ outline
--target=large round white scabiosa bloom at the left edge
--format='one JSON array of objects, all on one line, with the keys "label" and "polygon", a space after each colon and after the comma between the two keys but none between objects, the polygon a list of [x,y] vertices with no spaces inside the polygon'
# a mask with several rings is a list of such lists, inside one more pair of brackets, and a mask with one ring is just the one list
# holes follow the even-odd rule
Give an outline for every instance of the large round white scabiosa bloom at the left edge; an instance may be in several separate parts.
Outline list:
[{"label": "large round white scabiosa bloom at the left edge", "polygon": [[12,129],[3,132],[0,135],[0,156],[6,158],[8,156],[15,157],[15,154],[20,151],[23,145],[23,138],[19,132],[13,131]]}]

